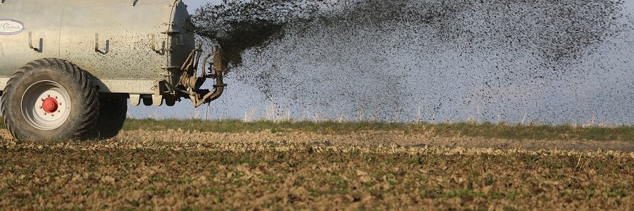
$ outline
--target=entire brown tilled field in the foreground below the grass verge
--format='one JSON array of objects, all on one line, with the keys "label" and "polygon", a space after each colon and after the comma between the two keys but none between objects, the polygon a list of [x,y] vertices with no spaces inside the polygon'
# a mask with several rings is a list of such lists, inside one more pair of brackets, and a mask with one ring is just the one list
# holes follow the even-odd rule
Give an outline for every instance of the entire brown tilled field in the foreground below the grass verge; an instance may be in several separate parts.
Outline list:
[{"label": "entire brown tilled field in the foreground below the grass verge", "polygon": [[634,209],[631,142],[401,132],[0,136],[1,210]]}]

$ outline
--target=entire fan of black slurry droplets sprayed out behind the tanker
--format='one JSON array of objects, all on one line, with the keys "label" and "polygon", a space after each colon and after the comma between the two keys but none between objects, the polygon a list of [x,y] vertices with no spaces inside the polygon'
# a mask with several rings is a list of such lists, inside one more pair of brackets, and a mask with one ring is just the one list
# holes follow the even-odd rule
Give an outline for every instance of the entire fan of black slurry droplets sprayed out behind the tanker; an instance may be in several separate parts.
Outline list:
[{"label": "entire fan of black slurry droplets sprayed out behind the tanker", "polygon": [[229,51],[232,77],[293,110],[634,122],[633,11],[620,0],[227,0],[192,20]]}]

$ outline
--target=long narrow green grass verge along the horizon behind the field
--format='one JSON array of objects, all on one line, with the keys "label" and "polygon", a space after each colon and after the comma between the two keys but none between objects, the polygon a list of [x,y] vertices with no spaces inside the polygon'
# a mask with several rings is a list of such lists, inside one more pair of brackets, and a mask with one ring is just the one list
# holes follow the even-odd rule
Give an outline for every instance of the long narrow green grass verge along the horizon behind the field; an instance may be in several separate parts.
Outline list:
[{"label": "long narrow green grass verge along the horizon behind the field", "polygon": [[126,120],[124,130],[162,131],[182,129],[198,132],[315,132],[349,134],[364,131],[397,131],[440,137],[484,137],[493,139],[634,141],[634,127],[574,127],[571,125],[493,123],[394,123],[394,122],[242,122],[240,120]]}]

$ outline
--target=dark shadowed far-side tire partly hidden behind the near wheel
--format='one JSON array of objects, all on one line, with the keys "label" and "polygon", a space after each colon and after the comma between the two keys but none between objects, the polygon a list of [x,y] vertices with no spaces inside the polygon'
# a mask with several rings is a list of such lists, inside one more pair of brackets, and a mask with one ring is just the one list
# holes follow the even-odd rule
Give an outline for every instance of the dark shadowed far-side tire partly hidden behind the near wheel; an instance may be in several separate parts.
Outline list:
[{"label": "dark shadowed far-side tire partly hidden behind the near wheel", "polygon": [[128,99],[101,98],[99,104],[99,120],[90,136],[91,139],[110,139],[123,128],[125,117],[128,115]]}]

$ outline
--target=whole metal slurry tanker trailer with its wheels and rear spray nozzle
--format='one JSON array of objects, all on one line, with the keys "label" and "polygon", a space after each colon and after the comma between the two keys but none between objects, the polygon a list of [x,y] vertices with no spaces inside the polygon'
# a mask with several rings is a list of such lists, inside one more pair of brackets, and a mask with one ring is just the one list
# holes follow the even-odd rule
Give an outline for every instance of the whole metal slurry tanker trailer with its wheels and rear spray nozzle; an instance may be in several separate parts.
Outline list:
[{"label": "whole metal slurry tanker trailer with its wheels and rear spray nozzle", "polygon": [[[128,98],[215,100],[226,86],[222,51],[203,55],[188,18],[180,0],[0,0],[6,127],[20,140],[108,138],[123,127]],[[201,89],[206,79],[213,89]]]}]

